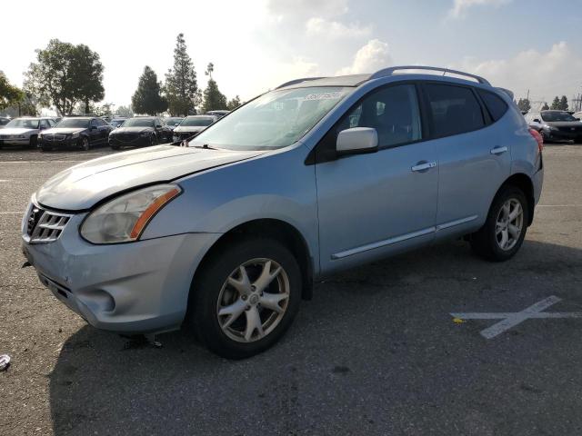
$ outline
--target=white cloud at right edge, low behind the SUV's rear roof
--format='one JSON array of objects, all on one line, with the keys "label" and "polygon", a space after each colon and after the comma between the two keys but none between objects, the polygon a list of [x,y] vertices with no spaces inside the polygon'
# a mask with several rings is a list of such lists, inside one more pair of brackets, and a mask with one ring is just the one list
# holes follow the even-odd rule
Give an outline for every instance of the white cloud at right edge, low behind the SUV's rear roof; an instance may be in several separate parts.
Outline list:
[{"label": "white cloud at right edge, low behind the SUV's rear roof", "polygon": [[533,100],[551,101],[554,95],[566,94],[569,99],[579,91],[582,77],[582,57],[566,42],[560,42],[547,52],[534,49],[508,59],[479,61],[466,58],[451,67],[482,75],[492,84],[511,89],[517,97],[527,90]]}]

